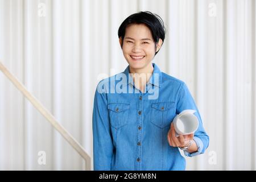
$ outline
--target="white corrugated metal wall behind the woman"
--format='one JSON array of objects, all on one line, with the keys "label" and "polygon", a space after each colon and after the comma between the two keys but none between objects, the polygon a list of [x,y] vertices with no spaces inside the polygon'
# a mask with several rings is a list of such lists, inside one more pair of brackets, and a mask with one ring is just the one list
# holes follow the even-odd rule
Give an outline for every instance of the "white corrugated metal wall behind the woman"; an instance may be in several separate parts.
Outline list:
[{"label": "white corrugated metal wall behind the woman", "polygon": [[[93,156],[94,91],[102,76],[127,67],[117,31],[141,10],[163,18],[167,37],[154,61],[187,82],[210,136],[187,169],[255,170],[254,0],[0,0],[0,60]],[[0,169],[83,164],[0,73]]]}]

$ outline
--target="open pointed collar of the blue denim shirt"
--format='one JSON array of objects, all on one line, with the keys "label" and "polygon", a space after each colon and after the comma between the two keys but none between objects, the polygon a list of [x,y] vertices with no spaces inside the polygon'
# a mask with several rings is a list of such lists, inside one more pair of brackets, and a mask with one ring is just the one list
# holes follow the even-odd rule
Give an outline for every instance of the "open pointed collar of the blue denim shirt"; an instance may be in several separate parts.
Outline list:
[{"label": "open pointed collar of the blue denim shirt", "polygon": [[[158,66],[155,63],[152,63],[152,66],[154,67],[154,71],[153,71],[148,83],[161,87],[162,72],[160,71],[160,69],[158,68]],[[133,77],[129,74],[130,73],[129,65],[127,66],[125,71],[123,71],[123,73],[125,73],[125,75],[126,75],[126,79],[127,79],[126,85],[130,84],[130,83],[133,84]],[[156,80],[156,79],[158,79],[158,80]]]}]

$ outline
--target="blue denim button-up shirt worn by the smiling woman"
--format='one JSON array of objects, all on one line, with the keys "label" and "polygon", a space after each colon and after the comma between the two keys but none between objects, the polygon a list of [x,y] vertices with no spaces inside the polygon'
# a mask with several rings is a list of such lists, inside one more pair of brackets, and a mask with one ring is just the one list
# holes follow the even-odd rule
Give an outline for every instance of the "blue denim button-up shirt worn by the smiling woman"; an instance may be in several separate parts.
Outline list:
[{"label": "blue denim button-up shirt worn by the smiling woman", "polygon": [[93,106],[94,170],[184,170],[185,159],[178,147],[168,144],[172,119],[185,109],[197,112],[199,127],[194,140],[203,154],[209,144],[200,113],[183,81],[154,71],[145,92],[135,88],[124,72],[101,80]]}]

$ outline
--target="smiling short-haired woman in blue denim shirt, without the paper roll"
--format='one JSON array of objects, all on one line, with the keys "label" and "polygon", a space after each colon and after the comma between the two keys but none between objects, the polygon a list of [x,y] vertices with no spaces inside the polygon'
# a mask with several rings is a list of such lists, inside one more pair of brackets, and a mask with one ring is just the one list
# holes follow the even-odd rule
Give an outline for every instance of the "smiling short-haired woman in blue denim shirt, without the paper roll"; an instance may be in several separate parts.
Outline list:
[{"label": "smiling short-haired woman in blue denim shirt, without the paper roll", "polygon": [[[129,66],[101,80],[94,96],[94,170],[184,170],[186,156],[209,145],[195,101],[185,83],[160,71],[163,20],[148,11],[126,18],[118,30]],[[176,137],[172,119],[185,109],[197,112],[195,134]]]}]

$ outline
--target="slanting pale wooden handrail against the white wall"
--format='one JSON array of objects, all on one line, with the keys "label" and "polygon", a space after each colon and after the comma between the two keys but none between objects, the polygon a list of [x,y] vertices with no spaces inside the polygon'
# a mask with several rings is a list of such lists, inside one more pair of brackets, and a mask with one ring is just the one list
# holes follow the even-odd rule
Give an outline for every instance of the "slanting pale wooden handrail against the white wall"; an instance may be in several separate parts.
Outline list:
[{"label": "slanting pale wooden handrail against the white wall", "polygon": [[72,137],[70,133],[53,117],[53,115],[44,107],[28,90],[26,87],[18,81],[17,78],[12,75],[8,69],[0,61],[0,70],[5,76],[22,92],[22,94],[31,102],[32,105],[46,118],[53,127],[64,137],[65,140],[81,155],[85,160],[85,170],[91,170],[90,156],[85,152],[84,148]]}]

